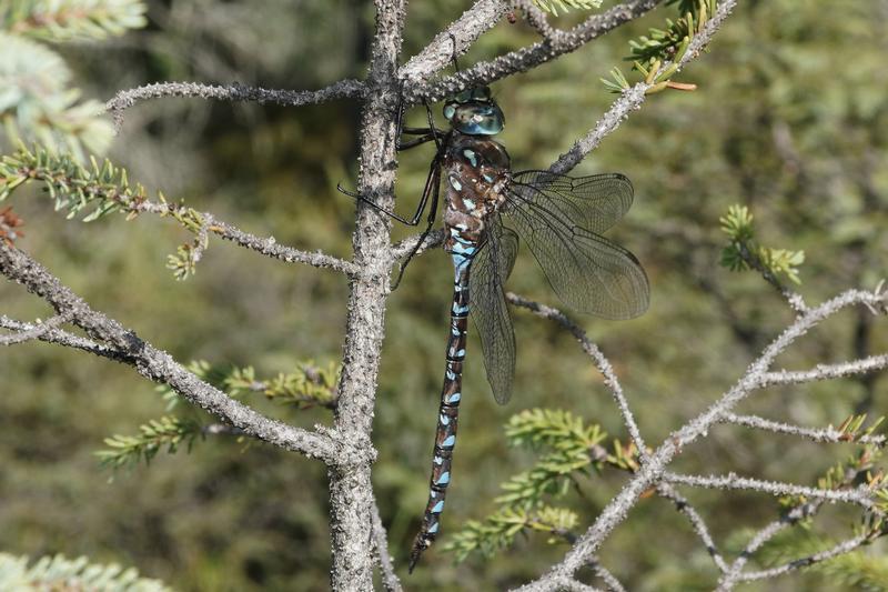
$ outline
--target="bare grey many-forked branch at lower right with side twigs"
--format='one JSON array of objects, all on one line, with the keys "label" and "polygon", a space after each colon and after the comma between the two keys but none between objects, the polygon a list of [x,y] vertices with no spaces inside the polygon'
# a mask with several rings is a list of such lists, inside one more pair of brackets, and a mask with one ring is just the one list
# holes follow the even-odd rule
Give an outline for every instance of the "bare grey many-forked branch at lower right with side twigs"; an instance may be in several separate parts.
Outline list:
[{"label": "bare grey many-forked branch at lower right with side twigs", "polygon": [[[635,421],[617,378],[613,374],[607,360],[588,342],[585,333],[575,323],[567,319],[559,311],[526,300],[515,294],[507,294],[507,300],[517,307],[525,308],[535,314],[554,320],[567,329],[581,342],[583,349],[589,353],[596,367],[605,379],[605,385],[610,390],[612,395],[617,402],[623,422],[627,428],[632,439],[643,442],[638,433],[637,422]],[[584,564],[595,558],[603,542],[609,533],[620,524],[627,516],[629,510],[638,502],[642,494],[654,488],[656,492],[670,500],[676,509],[679,510],[690,522],[692,528],[700,538],[708,550],[713,561],[723,574],[719,590],[730,590],[737,582],[773,578],[804,565],[824,561],[838,554],[854,550],[864,544],[865,536],[856,536],[836,545],[835,548],[787,563],[781,568],[764,570],[759,572],[744,572],[743,568],[748,558],[760,548],[767,540],[786,526],[794,524],[815,513],[824,502],[850,503],[872,510],[878,489],[869,486],[851,488],[850,484],[842,489],[826,490],[818,488],[803,486],[795,483],[781,483],[764,481],[759,479],[741,478],[736,474],[723,476],[713,475],[680,475],[668,472],[666,468],[680,454],[682,450],[688,444],[705,438],[709,429],[718,423],[736,423],[755,429],[768,430],[777,433],[787,433],[813,439],[818,442],[841,442],[847,441],[847,435],[842,437],[837,430],[809,430],[787,424],[780,424],[761,418],[749,415],[737,415],[733,409],[744,399],[750,397],[755,391],[775,384],[799,384],[810,381],[823,381],[835,378],[858,375],[867,372],[875,372],[888,369],[888,354],[872,355],[861,360],[844,362],[838,364],[820,364],[809,371],[789,372],[786,370],[769,371],[770,365],[777,355],[786,351],[798,338],[820,324],[826,319],[849,307],[865,307],[877,314],[886,313],[888,304],[888,293],[877,289],[872,292],[860,290],[848,290],[838,297],[820,304],[816,308],[808,308],[790,324],[779,337],[777,337],[761,353],[761,355],[749,367],[746,373],[725,392],[716,403],[699,414],[697,418],[687,422],[683,428],[674,432],[653,452],[647,452],[640,462],[640,466],[634,473],[632,480],[623,490],[607,504],[601,512],[595,523],[585,534],[576,540],[576,543],[566,554],[564,560],[552,568],[552,570],[538,580],[528,583],[518,590],[537,591],[552,590],[562,585],[565,579],[573,578],[573,574]],[[885,437],[864,435],[856,440],[858,443],[871,443],[884,445]],[[639,450],[646,450],[639,446]],[[750,541],[744,553],[733,563],[728,564],[713,541],[709,530],[703,518],[692,508],[687,500],[678,494],[674,485],[685,485],[694,488],[709,488],[724,490],[745,490],[768,493],[771,495],[803,495],[810,500],[805,504],[794,509],[781,520],[767,525],[759,531]]]}]

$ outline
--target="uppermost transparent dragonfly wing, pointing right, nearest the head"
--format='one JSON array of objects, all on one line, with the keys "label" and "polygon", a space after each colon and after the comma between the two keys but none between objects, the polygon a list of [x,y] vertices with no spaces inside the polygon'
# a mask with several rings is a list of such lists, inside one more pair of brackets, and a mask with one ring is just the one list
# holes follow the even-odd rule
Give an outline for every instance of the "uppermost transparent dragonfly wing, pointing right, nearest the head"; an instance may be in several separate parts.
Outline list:
[{"label": "uppermost transparent dragonfly wing, pointing right, nearest the head", "polygon": [[619,173],[567,177],[548,171],[513,174],[512,190],[524,202],[545,207],[592,232],[613,227],[632,205],[632,182]]}]

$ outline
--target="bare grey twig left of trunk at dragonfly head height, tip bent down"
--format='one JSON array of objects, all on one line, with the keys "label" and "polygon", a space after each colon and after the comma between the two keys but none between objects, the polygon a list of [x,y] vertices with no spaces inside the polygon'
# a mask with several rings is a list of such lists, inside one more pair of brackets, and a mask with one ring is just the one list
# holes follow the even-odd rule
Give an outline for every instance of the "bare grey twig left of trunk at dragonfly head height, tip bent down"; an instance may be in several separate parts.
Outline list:
[{"label": "bare grey twig left of trunk at dragonfly head height, tip bent down", "polygon": [[193,97],[199,99],[216,99],[222,101],[276,103],[285,107],[314,104],[333,99],[360,98],[365,92],[364,83],[357,80],[340,80],[321,90],[286,90],[245,87],[243,84],[203,84],[200,82],[159,82],[134,89],[121,90],[105,102],[105,109],[113,116],[114,124],[120,128],[123,111],[140,101],[162,99],[164,97]]}]

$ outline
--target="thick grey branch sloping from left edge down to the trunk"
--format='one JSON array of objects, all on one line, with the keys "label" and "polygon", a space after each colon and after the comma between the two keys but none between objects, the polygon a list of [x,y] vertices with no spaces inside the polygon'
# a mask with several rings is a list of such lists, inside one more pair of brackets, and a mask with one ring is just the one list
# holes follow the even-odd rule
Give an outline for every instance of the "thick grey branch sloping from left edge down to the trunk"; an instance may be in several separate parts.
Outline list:
[{"label": "thick grey branch sloping from left edge down to the trunk", "polygon": [[203,382],[167,352],[140,339],[134,331],[92,310],[40,263],[0,241],[0,273],[46,300],[94,341],[121,352],[118,361],[129,363],[141,375],[169,384],[189,402],[221,418],[244,433],[280,448],[332,463],[343,455],[331,438],[271,420]]}]

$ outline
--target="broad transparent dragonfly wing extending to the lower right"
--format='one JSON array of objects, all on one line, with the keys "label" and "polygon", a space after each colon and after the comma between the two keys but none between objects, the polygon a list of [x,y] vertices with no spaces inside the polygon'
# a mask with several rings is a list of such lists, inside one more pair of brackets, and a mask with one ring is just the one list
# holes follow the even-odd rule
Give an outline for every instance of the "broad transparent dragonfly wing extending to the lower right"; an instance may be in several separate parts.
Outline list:
[{"label": "broad transparent dragonfly wing extending to the lower right", "polygon": [[[569,218],[566,198],[545,201],[539,195],[548,193],[528,193],[527,187],[507,190],[506,212],[558,298],[574,310],[605,319],[632,319],[647,310],[647,275],[635,255]],[[596,215],[594,228],[603,228],[623,213]],[[589,214],[579,220],[587,223]]]}]

